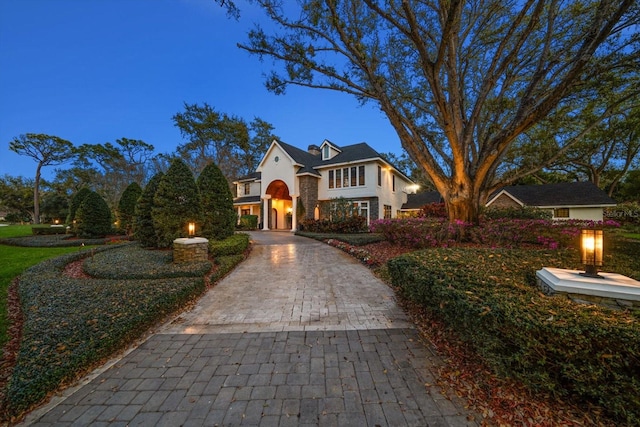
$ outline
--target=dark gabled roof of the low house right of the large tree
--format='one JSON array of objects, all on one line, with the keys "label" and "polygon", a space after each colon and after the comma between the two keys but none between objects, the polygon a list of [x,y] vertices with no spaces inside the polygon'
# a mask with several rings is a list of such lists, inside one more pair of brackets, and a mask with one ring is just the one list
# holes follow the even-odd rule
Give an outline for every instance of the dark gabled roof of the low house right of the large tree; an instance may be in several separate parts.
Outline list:
[{"label": "dark gabled roof of the low house right of the large tree", "polygon": [[616,202],[592,182],[561,182],[544,185],[513,185],[491,196],[487,206],[506,194],[521,205],[540,208],[615,206]]}]

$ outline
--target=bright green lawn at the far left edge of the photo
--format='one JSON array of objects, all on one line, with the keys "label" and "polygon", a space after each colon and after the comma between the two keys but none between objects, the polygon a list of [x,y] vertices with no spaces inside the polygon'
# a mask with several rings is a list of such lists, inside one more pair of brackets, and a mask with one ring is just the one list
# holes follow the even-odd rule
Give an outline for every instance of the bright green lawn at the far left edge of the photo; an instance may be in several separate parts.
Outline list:
[{"label": "bright green lawn at the far left edge of the photo", "polygon": [[[19,237],[31,235],[30,225],[10,225],[0,227],[0,237]],[[11,281],[24,270],[47,258],[77,252],[70,248],[25,248],[0,245],[0,347],[7,342],[7,290]]]}]

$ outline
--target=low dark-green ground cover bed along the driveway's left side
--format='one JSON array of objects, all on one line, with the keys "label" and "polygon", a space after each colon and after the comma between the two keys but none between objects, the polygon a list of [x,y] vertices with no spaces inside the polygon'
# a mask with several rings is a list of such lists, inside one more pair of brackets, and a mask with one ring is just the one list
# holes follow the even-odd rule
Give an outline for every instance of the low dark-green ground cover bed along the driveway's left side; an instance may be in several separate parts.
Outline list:
[{"label": "low dark-green ground cover bed along the driveway's left side", "polygon": [[[244,259],[245,241],[239,253],[191,268],[172,264],[170,251],[128,244],[68,254],[24,272],[19,282],[22,340],[3,390],[2,419],[17,419],[189,304]],[[79,263],[84,272],[69,274],[69,267]]]}]

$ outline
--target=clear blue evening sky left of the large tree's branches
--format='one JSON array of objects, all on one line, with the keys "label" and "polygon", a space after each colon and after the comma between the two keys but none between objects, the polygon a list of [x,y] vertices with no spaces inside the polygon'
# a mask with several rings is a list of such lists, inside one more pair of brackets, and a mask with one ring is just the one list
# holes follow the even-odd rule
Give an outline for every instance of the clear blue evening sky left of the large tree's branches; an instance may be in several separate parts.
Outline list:
[{"label": "clear blue evening sky left of the large tree's branches", "polygon": [[373,104],[317,89],[267,92],[271,61],[236,47],[267,22],[238,3],[235,21],[213,0],[0,0],[0,176],[35,174],[33,159],[9,150],[24,133],[75,145],[140,139],[173,152],[183,140],[171,117],[184,102],[260,117],[304,149],[326,138],[400,153]]}]

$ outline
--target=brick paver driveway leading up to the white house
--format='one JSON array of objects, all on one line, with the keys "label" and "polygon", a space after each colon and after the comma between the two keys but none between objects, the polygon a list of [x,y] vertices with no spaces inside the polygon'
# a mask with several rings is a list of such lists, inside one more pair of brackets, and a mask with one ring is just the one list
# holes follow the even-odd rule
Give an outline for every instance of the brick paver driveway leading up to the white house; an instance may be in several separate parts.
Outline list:
[{"label": "brick paver driveway leading up to the white house", "polygon": [[291,233],[251,237],[196,307],[25,423],[477,425],[430,385],[440,359],[369,269]]}]

